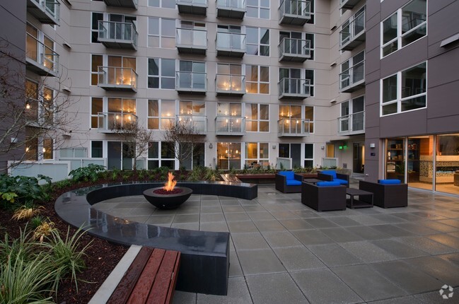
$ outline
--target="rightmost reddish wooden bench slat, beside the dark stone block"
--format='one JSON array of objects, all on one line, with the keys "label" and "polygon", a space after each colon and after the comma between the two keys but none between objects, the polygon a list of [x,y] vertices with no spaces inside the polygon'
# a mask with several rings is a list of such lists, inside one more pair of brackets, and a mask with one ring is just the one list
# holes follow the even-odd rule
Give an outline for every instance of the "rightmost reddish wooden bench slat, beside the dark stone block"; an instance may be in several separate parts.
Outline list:
[{"label": "rightmost reddish wooden bench slat, beside the dark stone block", "polygon": [[177,268],[177,259],[180,257],[176,251],[167,251],[163,257],[163,262],[156,275],[155,281],[151,288],[151,292],[147,303],[163,304],[169,303],[172,300],[172,291],[175,289],[175,269]]}]

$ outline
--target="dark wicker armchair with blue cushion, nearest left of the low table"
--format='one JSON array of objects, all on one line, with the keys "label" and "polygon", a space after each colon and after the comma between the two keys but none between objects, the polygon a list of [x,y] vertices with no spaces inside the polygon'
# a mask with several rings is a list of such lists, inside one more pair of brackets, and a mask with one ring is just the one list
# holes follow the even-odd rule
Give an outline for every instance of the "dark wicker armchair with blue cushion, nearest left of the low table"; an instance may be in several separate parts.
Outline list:
[{"label": "dark wicker armchair with blue cushion, nearest left of the low table", "polygon": [[338,182],[303,182],[301,203],[317,211],[345,210],[346,187]]}]

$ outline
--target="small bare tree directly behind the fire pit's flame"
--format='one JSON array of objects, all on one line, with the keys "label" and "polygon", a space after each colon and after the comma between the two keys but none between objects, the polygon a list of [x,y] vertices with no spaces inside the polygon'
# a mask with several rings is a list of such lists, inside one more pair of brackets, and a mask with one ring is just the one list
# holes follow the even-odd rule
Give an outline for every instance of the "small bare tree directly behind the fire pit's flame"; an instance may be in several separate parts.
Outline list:
[{"label": "small bare tree directly behind the fire pit's flame", "polygon": [[170,143],[166,147],[177,158],[180,170],[185,167],[185,161],[198,152],[198,144],[202,142],[199,129],[194,126],[192,119],[170,124],[163,133],[162,141]]}]

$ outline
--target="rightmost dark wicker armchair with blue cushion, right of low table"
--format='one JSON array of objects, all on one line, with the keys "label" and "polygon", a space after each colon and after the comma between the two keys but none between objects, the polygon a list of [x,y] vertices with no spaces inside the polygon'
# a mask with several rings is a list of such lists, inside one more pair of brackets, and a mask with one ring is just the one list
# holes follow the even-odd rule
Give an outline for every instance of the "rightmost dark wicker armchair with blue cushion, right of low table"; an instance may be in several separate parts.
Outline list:
[{"label": "rightmost dark wicker armchair with blue cushion, right of low table", "polygon": [[[379,182],[359,181],[359,189],[373,193],[373,205],[381,208],[408,206],[407,184],[384,184]],[[364,201],[364,197],[360,198]]]}]

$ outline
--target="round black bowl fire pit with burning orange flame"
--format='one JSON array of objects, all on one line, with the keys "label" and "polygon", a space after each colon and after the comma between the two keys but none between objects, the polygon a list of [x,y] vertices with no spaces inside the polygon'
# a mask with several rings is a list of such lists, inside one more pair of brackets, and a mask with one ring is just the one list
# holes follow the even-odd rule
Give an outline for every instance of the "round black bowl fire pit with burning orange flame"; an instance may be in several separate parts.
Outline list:
[{"label": "round black bowl fire pit with burning orange flame", "polygon": [[164,187],[146,189],[144,197],[150,204],[158,209],[175,209],[183,204],[192,194],[193,190],[187,187],[175,187],[177,181],[172,173],[168,174],[168,181]]}]

